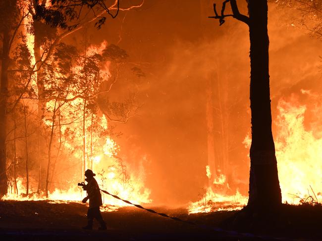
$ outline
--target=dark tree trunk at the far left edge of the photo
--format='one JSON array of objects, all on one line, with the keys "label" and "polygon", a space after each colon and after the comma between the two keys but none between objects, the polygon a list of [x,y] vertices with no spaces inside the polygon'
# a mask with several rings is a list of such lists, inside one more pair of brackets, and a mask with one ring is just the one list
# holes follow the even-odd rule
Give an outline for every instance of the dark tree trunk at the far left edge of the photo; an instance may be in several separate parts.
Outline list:
[{"label": "dark tree trunk at the far left edge of the photo", "polygon": [[1,87],[0,87],[0,198],[7,194],[8,178],[6,175],[6,109],[8,101],[8,65],[10,28],[2,32],[2,61],[1,61]]}]

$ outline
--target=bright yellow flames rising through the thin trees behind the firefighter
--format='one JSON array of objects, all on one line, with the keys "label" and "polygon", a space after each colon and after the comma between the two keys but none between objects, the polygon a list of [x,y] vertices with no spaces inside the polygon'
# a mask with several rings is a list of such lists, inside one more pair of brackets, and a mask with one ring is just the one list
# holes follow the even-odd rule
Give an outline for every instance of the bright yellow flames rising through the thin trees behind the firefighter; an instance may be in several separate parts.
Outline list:
[{"label": "bright yellow flames rising through the thin trees behind the firefighter", "polygon": [[[31,18],[26,20],[26,24],[30,24]],[[35,64],[35,55],[34,55],[34,36],[25,31],[27,46],[32,55],[32,62]],[[87,49],[87,55],[93,54],[101,54],[103,50],[107,46],[107,41],[104,40],[99,45],[90,45]],[[106,61],[100,68],[100,81],[108,81],[110,77],[109,73],[109,64],[110,62]],[[81,66],[74,65],[72,71],[81,75]],[[59,73],[55,73],[54,77],[59,79]],[[35,78],[36,80],[36,78]],[[35,89],[37,89],[36,81],[32,83],[35,85]],[[56,83],[59,84],[59,81]],[[45,87],[47,89],[51,89],[53,86],[48,84],[45,81]],[[99,86],[97,86],[98,88]],[[71,90],[76,90],[77,86],[70,86],[69,92],[66,96],[66,99],[73,99],[74,95]],[[95,92],[95,91],[93,91]],[[37,102],[35,101],[37,106]],[[109,127],[109,123],[107,118],[103,113],[93,113],[91,117],[90,115],[83,115],[83,109],[85,105],[85,101],[82,98],[75,98],[72,101],[69,101],[68,104],[59,104],[57,100],[48,101],[46,106],[45,118],[42,120],[45,124],[44,128],[46,133],[50,131],[53,126],[53,122],[57,121],[58,115],[60,121],[62,121],[62,125],[60,127],[55,127],[54,129],[54,140],[53,142],[56,146],[52,146],[57,148],[59,144],[62,144],[64,150],[61,150],[65,154],[68,155],[68,160],[74,161],[78,166],[82,166],[83,160],[83,149],[80,148],[83,145],[83,121],[71,121],[71,120],[80,120],[85,119],[85,151],[86,151],[86,168],[92,168],[94,172],[97,174],[97,181],[102,190],[107,190],[109,193],[119,196],[124,200],[129,200],[133,203],[148,203],[150,200],[150,190],[145,187],[144,183],[144,168],[140,165],[138,168],[135,166],[129,166],[129,161],[122,161],[119,157],[120,147],[117,145],[115,140],[112,137],[102,133],[105,133]],[[56,112],[55,116],[53,115],[54,110],[57,111],[57,106],[59,106],[59,113]],[[93,119],[95,120],[95,127],[93,127]],[[68,124],[65,124],[68,123]],[[56,124],[56,122],[54,122]],[[58,126],[55,125],[55,126]],[[93,128],[90,132],[88,128]],[[68,137],[68,130],[72,130],[72,136]],[[58,132],[60,131],[60,134]],[[62,139],[59,138],[62,136]],[[90,143],[91,138],[91,143]],[[58,144],[58,145],[57,145]],[[57,151],[54,150],[56,153]],[[123,154],[124,155],[124,154]],[[54,154],[53,154],[54,156]],[[125,155],[126,156],[126,155]],[[143,157],[142,159],[145,159]],[[67,161],[67,160],[65,160]],[[144,161],[144,160],[143,160]],[[142,162],[142,161],[141,161]],[[49,200],[51,202],[68,202],[68,201],[80,201],[85,196],[85,192],[77,186],[77,182],[81,181],[81,177],[83,178],[83,174],[79,173],[75,175],[77,168],[74,170],[71,169],[70,176],[74,175],[71,179],[64,180],[63,184],[57,185],[54,190],[49,192]],[[79,170],[78,170],[79,171]],[[75,177],[76,176],[76,177]],[[80,180],[79,180],[79,179]],[[17,180],[17,189],[19,195],[14,193],[14,189],[12,187],[8,187],[8,194],[3,197],[6,200],[45,200],[45,194],[43,191],[37,192],[35,187],[38,187],[38,180],[30,178],[29,179],[29,195],[23,195],[26,191],[26,180],[25,178],[18,177]],[[21,195],[22,194],[22,195]],[[103,194],[104,211],[115,210],[117,206],[130,205],[128,203],[117,200],[111,196]]]}]

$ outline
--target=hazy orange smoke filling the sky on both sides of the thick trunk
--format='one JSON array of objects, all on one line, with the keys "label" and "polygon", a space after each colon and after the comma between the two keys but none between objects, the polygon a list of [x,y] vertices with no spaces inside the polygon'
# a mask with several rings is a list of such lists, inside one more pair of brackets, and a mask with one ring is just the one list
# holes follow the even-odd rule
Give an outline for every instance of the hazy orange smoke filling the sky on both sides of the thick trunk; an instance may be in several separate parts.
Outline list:
[{"label": "hazy orange smoke filling the sky on both sides of the thick trunk", "polygon": [[[146,74],[140,83],[143,105],[128,123],[117,124],[123,133],[117,143],[128,162],[132,160],[135,166],[142,161],[155,203],[196,201],[207,184],[206,89],[210,79],[214,105],[221,100],[227,108],[231,175],[247,194],[249,159],[242,142],[250,132],[248,29],[235,19],[219,27],[217,20],[208,18],[214,15],[212,3],[145,0],[140,9],[107,20],[101,30],[89,30],[92,43],[118,44],[129,54],[129,62]],[[321,41],[295,22],[291,26],[297,14],[269,5],[273,120],[280,98],[287,100],[295,94],[310,103],[301,89],[321,92]],[[118,82],[114,98],[124,89],[128,86]],[[215,114],[215,129],[218,118]],[[215,140],[220,147],[220,138]]]}]

